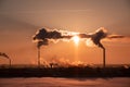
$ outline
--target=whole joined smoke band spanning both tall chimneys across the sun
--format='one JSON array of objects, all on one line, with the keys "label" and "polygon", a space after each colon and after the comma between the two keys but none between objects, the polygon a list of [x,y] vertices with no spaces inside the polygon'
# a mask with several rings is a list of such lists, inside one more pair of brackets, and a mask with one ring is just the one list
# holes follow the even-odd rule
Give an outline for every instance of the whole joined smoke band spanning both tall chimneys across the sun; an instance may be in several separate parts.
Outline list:
[{"label": "whole joined smoke band spanning both tall chimneys across the sun", "polygon": [[86,33],[74,33],[74,32],[65,32],[65,30],[48,30],[46,28],[39,29],[34,36],[34,40],[37,41],[37,47],[40,48],[42,45],[49,45],[50,40],[57,39],[68,39],[70,40],[74,36],[79,36],[81,39],[90,38],[92,42],[100,48],[104,49],[104,46],[101,44],[101,40],[104,38],[123,38],[120,35],[108,35],[107,30],[104,27],[99,28],[94,33],[86,34]]}]

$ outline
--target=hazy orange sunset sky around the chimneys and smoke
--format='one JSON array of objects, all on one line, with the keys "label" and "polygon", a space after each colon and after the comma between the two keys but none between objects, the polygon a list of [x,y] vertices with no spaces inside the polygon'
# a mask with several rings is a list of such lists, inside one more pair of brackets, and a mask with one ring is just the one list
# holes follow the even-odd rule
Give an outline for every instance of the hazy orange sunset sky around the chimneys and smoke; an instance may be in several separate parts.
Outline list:
[{"label": "hazy orange sunset sky around the chimneys and smoke", "polygon": [[[130,64],[130,0],[0,0],[0,52],[13,64],[37,63],[32,35],[42,27],[93,33],[105,27],[127,38],[102,40],[107,64]],[[0,64],[8,60],[0,57]],[[102,49],[80,41],[50,44],[41,48],[42,60],[102,63]]]}]

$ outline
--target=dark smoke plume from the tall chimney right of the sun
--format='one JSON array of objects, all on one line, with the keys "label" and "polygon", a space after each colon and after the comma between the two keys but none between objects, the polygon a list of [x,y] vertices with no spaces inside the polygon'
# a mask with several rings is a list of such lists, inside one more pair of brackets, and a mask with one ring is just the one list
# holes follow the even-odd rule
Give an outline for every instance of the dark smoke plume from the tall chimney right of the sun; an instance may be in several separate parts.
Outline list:
[{"label": "dark smoke plume from the tall chimney right of the sun", "polygon": [[102,49],[105,49],[104,46],[101,42],[102,39],[106,39],[106,38],[107,39],[125,38],[125,36],[122,36],[122,35],[108,34],[107,30],[104,27],[99,28],[94,33],[91,33],[91,34],[79,34],[78,36],[80,38],[87,38],[87,41],[88,40],[89,40],[89,42],[92,41],[94,45],[99,46]]}]

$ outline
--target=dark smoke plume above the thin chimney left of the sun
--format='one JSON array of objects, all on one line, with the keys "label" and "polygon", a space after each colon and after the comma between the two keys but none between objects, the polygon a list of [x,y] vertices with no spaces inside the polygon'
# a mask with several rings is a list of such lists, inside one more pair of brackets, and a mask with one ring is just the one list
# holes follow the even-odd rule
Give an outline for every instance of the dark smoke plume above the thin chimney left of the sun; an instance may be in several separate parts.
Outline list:
[{"label": "dark smoke plume above the thin chimney left of the sun", "polygon": [[64,38],[70,38],[69,33],[63,30],[48,30],[46,28],[39,29],[36,35],[32,37],[37,41],[37,47],[40,48],[42,45],[49,45],[49,40],[57,40]]}]

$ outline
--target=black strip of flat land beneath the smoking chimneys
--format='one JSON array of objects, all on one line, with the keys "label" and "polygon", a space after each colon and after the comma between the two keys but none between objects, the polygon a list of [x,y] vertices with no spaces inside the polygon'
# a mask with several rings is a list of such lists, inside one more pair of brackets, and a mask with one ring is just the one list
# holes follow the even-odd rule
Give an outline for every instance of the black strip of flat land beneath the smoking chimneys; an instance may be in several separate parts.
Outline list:
[{"label": "black strip of flat land beneath the smoking chimneys", "polygon": [[0,66],[0,77],[130,77],[130,66]]}]

